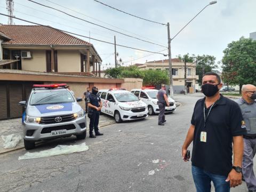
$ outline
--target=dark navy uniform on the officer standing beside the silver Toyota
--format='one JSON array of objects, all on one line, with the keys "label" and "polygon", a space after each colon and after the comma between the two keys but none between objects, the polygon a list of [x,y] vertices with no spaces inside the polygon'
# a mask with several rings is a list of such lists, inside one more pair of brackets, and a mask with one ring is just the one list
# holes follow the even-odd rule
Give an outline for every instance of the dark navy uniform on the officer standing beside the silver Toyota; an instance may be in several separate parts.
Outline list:
[{"label": "dark navy uniform on the officer standing beside the silver Toyota", "polygon": [[[87,99],[88,103],[91,103],[91,105],[95,106],[95,107],[100,107],[100,97],[98,94],[93,94],[91,93]],[[92,113],[92,117],[90,118],[90,136],[93,135],[93,128],[94,128],[94,132],[95,135],[101,135],[101,133],[99,133],[99,118],[100,118],[100,111],[97,111],[94,108],[90,108],[89,107],[89,111]]]}]

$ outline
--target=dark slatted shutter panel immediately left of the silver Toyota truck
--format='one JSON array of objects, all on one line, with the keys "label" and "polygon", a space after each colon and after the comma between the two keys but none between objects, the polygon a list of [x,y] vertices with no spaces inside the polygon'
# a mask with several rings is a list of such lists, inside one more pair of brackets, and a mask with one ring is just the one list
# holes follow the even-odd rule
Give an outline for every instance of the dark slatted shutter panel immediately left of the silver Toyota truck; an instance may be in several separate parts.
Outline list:
[{"label": "dark slatted shutter panel immediately left of the silver Toyota truck", "polygon": [[22,85],[9,86],[10,118],[22,116],[22,107],[19,105],[19,102],[22,101],[22,95]]}]

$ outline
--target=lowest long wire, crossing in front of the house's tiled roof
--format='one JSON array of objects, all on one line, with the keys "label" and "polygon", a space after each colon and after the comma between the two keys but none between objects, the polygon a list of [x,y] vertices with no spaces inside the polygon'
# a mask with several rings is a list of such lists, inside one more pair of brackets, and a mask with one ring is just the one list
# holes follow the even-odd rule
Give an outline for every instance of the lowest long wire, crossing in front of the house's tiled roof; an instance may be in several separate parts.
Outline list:
[{"label": "lowest long wire, crossing in front of the house's tiled roof", "polygon": [[[87,37],[87,36],[84,36],[84,35],[79,35],[79,34],[76,34],[76,33],[72,33],[72,32],[66,31],[66,30],[61,30],[61,29],[58,29],[58,28],[55,28],[55,27],[42,25],[42,24],[39,24],[39,23],[36,23],[36,22],[33,22],[33,21],[28,21],[28,20],[25,20],[25,19],[17,18],[17,17],[10,16],[10,15],[4,14],[4,13],[0,13],[0,14],[1,14],[1,15],[4,15],[4,16],[6,16],[6,17],[12,17],[12,18],[14,18],[14,19],[18,19],[18,20],[21,20],[21,21],[33,23],[33,24],[35,24],[35,25],[44,26],[44,27],[49,27],[49,28],[52,28],[52,29],[55,29],[55,30],[59,30],[59,31],[68,33],[68,34],[77,35],[77,36],[81,36],[81,37],[85,37],[85,38],[91,38],[91,39],[93,39],[93,40],[95,40],[95,41],[99,41],[99,42],[102,42],[102,43],[107,43],[107,44],[114,45],[114,43],[102,41],[102,40],[100,40],[100,39],[95,39],[95,38],[92,38],[92,37]],[[128,49],[133,49],[133,50],[138,50],[138,51],[144,51],[144,52],[149,52],[149,53],[163,54],[163,53],[157,53],[157,52],[154,52],[154,51],[147,51],[147,50],[142,50],[142,49],[138,49],[138,48],[134,48],[134,47],[129,47],[129,46],[125,46],[125,45],[116,44],[116,46],[121,46],[121,47],[125,47],[125,48],[128,48]],[[164,54],[163,54],[163,55],[164,55]]]}]

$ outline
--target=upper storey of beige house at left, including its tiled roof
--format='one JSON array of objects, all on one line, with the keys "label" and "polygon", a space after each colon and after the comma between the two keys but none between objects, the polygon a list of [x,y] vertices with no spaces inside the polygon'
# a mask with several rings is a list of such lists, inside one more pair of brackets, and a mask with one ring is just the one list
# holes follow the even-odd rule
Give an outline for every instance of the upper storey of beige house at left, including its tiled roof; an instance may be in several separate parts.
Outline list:
[{"label": "upper storey of beige house at left, including its tiled roof", "polygon": [[[0,68],[100,76],[94,46],[47,26],[0,25]],[[18,60],[18,61],[17,61]]]}]

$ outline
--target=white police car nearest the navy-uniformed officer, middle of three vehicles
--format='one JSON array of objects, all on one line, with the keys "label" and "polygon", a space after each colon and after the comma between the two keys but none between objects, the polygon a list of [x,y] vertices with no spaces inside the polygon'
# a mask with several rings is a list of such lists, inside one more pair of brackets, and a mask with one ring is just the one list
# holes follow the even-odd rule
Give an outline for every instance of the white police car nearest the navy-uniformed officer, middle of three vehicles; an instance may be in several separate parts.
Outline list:
[{"label": "white police car nearest the navy-uniformed officer, middle of three vehicles", "polygon": [[113,116],[117,123],[148,117],[146,103],[125,89],[99,90],[101,113]]}]

